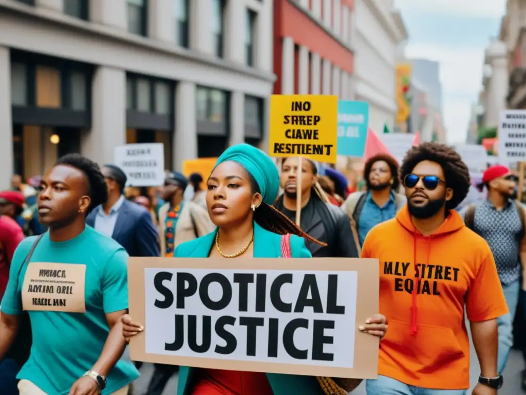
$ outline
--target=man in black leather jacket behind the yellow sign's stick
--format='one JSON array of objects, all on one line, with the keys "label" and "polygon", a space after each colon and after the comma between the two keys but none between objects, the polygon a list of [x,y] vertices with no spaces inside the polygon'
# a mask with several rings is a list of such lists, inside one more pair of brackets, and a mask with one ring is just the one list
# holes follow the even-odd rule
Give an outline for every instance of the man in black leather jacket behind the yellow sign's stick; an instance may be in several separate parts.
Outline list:
[{"label": "man in black leather jacket behind the yellow sign's stick", "polygon": [[[274,203],[291,221],[296,220],[298,163],[297,157],[288,157],[281,163],[280,184],[284,193]],[[337,206],[321,199],[316,190],[317,175],[316,164],[302,160],[300,228],[326,244],[307,239],[307,248],[315,257],[358,258],[349,220]]]}]

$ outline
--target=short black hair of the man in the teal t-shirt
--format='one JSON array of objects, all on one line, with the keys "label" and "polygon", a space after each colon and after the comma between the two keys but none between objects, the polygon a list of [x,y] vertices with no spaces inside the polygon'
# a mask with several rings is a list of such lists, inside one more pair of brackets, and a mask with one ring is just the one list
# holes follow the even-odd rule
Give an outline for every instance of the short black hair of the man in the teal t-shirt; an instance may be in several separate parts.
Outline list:
[{"label": "short black hair of the man in the teal t-shirt", "polygon": [[60,157],[55,166],[67,165],[75,167],[86,175],[88,182],[88,195],[90,199],[89,207],[86,214],[89,214],[99,204],[106,203],[108,200],[108,189],[104,175],[100,171],[100,166],[80,154],[67,154]]}]

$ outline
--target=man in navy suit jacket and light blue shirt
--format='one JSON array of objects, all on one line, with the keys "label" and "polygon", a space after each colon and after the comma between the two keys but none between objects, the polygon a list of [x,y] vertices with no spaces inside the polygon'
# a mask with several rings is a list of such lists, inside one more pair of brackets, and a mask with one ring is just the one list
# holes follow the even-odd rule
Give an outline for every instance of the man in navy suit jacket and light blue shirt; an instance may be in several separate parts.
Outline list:
[{"label": "man in navy suit jacket and light blue shirt", "polygon": [[86,223],[117,241],[130,256],[159,256],[159,236],[150,212],[124,196],[126,174],[112,164],[102,173],[108,200],[89,213]]}]

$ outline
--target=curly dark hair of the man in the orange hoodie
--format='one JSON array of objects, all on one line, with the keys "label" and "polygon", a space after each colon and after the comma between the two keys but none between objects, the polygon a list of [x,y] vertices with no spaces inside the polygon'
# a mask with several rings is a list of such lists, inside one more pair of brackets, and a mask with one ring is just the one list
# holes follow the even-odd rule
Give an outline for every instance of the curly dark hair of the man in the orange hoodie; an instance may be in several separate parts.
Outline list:
[{"label": "curly dark hair of the man in the orange hoodie", "polygon": [[438,163],[444,172],[446,186],[453,190],[453,197],[446,202],[446,209],[453,210],[466,199],[471,185],[469,170],[458,152],[446,144],[422,143],[412,147],[400,166],[400,180],[410,174],[422,161]]}]

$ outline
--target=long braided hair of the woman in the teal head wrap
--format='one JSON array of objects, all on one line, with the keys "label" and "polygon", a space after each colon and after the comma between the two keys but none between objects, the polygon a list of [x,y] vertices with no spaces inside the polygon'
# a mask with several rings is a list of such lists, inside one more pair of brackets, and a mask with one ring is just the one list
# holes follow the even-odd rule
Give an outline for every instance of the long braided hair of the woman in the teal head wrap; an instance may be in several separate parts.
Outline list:
[{"label": "long braided hair of the woman in the teal head wrap", "polygon": [[[248,174],[250,176],[252,191],[254,193],[261,193],[259,185],[257,184],[254,177],[252,177],[250,173]],[[298,225],[296,225],[296,223],[289,220],[284,213],[282,213],[270,204],[261,203],[259,205],[259,207],[254,212],[254,221],[256,221],[257,224],[261,226],[261,228],[266,229],[270,232],[277,234],[295,234],[304,238],[305,240],[318,243],[324,247],[327,246],[326,243],[316,240],[312,236],[302,231],[301,228]]]}]

